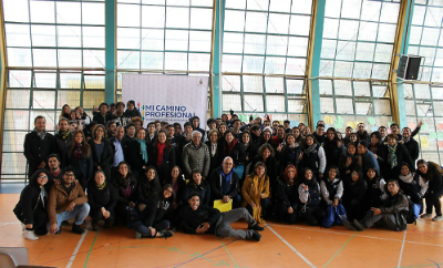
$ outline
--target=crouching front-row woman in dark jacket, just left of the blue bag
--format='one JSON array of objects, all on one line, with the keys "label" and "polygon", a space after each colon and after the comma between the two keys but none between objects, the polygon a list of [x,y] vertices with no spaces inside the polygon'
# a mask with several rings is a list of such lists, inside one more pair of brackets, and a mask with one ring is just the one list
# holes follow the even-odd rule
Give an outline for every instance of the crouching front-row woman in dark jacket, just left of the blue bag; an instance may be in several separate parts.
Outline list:
[{"label": "crouching front-row woman in dark jacket, just left of the blue bag", "polygon": [[300,199],[300,215],[308,225],[316,226],[324,218],[326,213],[320,207],[321,192],[313,172],[310,168],[301,171],[298,195]]}]

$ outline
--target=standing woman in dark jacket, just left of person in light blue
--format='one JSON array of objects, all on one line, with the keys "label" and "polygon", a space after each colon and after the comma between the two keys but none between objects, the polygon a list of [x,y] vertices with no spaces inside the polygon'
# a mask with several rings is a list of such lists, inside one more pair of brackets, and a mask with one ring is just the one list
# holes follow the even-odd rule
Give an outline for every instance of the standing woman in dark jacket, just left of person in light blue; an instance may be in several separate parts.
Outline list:
[{"label": "standing woman in dark jacket, just left of person in light blue", "polygon": [[94,127],[92,137],[87,143],[91,146],[93,171],[103,171],[107,183],[111,183],[111,165],[114,157],[112,145],[107,141],[106,127],[97,124]]}]

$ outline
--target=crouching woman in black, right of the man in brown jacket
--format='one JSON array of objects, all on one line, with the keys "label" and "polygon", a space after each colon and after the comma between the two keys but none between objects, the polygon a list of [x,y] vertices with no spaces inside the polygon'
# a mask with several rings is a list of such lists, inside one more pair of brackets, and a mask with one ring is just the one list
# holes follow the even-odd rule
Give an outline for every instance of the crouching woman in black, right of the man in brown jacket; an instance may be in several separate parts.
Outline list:
[{"label": "crouching woman in black, right of the man in brown jacket", "polygon": [[115,213],[114,208],[117,204],[119,194],[112,184],[106,183],[106,177],[103,171],[96,171],[94,179],[91,179],[87,187],[87,203],[91,210],[92,230],[99,229],[99,220],[104,219],[104,228],[110,228],[114,225]]}]

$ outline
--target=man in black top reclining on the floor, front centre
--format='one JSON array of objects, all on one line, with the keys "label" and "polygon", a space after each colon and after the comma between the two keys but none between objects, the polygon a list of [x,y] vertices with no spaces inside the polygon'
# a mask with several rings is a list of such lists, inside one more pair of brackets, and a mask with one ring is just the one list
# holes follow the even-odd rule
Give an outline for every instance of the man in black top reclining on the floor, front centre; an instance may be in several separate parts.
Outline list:
[{"label": "man in black top reclining on the floor, front centre", "polygon": [[[215,234],[220,237],[234,237],[259,241],[261,235],[257,230],[264,227],[257,225],[246,208],[236,208],[227,213],[220,213],[217,208],[200,205],[200,196],[194,192],[188,197],[189,206],[181,213],[182,228],[187,234]],[[245,219],[248,230],[236,230],[230,224]]]}]

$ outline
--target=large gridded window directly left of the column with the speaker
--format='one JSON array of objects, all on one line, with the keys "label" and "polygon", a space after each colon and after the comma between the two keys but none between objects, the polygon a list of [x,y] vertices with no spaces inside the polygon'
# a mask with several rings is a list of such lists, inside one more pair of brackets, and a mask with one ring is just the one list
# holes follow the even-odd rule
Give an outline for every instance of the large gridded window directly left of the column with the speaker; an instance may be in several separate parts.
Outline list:
[{"label": "large gridded window directly left of the column with the speaker", "polygon": [[328,0],[321,47],[320,103],[329,126],[344,131],[392,121],[388,79],[400,1]]}]

